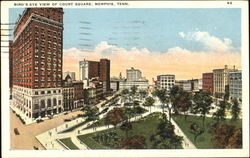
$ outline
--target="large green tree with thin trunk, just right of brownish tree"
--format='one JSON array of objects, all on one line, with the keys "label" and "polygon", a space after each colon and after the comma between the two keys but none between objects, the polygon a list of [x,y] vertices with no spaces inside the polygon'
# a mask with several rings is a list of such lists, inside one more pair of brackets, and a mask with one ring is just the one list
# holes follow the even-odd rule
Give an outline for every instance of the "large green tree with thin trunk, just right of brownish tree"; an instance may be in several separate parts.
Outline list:
[{"label": "large green tree with thin trunk, just right of brownish tree", "polygon": [[192,107],[192,112],[195,114],[201,114],[203,117],[203,127],[205,126],[206,115],[209,114],[210,109],[212,109],[213,99],[210,93],[207,91],[201,91],[194,95],[193,98],[194,105]]}]

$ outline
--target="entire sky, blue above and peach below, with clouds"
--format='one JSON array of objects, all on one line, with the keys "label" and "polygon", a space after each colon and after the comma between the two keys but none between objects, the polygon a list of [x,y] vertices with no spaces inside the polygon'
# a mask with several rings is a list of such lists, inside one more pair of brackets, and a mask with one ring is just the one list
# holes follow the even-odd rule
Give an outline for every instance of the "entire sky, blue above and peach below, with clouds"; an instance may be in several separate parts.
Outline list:
[{"label": "entire sky, blue above and peach below, with clouds", "polygon": [[[22,10],[10,9],[10,21]],[[241,10],[64,9],[63,49],[64,71],[77,74],[79,60],[108,58],[111,76],[135,67],[149,80],[201,78],[224,65],[241,68]]]}]

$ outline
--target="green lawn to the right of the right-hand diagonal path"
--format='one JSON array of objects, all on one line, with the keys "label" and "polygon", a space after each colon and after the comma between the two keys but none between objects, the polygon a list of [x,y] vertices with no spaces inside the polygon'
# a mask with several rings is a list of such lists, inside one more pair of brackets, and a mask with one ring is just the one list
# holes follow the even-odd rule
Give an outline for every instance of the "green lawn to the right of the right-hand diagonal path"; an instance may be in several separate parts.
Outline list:
[{"label": "green lawn to the right of the right-hand diagonal path", "polygon": [[[200,116],[187,116],[187,120],[185,121],[184,115],[175,115],[173,116],[173,119],[175,122],[179,125],[179,127],[182,129],[182,131],[187,135],[187,137],[194,143],[194,135],[190,133],[189,127],[192,123],[197,123],[200,127],[202,127],[202,118]],[[197,148],[201,149],[210,149],[214,148],[213,142],[211,141],[212,135],[209,132],[210,126],[213,123],[213,119],[211,117],[206,117],[205,119],[205,128],[204,133],[202,133],[200,136],[197,137],[196,143],[194,145]],[[231,121],[231,120],[225,120],[222,123],[234,125],[236,128],[242,127],[242,121]]]}]

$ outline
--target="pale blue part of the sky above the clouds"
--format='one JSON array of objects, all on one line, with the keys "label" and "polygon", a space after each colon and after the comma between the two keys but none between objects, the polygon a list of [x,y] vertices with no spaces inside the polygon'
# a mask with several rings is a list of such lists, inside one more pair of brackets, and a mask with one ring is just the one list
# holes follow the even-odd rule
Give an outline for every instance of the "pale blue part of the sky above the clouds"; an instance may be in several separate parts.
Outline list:
[{"label": "pale blue part of the sky above the clouds", "polygon": [[[16,21],[22,10],[10,9],[10,22]],[[204,46],[201,43],[179,36],[179,32],[195,31],[208,32],[221,40],[229,38],[232,46],[240,49],[241,10],[64,9],[63,48],[93,49],[101,41],[106,41],[126,49],[137,47],[166,52],[181,47],[202,51]]]}]

